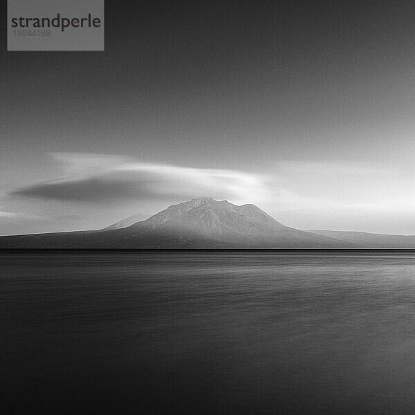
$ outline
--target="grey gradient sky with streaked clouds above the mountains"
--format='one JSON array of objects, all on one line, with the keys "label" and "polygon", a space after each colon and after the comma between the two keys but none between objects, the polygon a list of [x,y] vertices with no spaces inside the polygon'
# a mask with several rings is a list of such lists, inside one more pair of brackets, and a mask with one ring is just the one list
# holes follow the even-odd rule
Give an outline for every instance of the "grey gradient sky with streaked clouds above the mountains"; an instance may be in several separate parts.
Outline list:
[{"label": "grey gradient sky with streaked clouds above the mountains", "polygon": [[7,52],[3,26],[0,234],[199,196],[415,234],[414,39],[390,0],[107,1],[104,52]]}]

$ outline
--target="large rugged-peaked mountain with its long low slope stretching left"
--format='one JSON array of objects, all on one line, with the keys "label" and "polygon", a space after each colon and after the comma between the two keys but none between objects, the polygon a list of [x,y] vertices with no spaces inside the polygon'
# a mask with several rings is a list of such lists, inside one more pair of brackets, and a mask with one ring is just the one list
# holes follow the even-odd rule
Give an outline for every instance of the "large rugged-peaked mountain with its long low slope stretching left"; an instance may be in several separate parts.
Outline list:
[{"label": "large rugged-peaked mountain with its long low slope stretching left", "polygon": [[138,221],[84,232],[0,237],[0,248],[353,248],[288,228],[255,205],[193,199]]}]

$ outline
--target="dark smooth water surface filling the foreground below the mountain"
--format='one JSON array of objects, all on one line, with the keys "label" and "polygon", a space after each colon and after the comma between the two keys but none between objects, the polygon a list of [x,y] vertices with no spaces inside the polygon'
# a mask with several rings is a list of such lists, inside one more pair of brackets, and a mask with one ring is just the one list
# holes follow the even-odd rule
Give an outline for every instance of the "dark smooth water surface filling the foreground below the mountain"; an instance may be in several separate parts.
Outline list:
[{"label": "dark smooth water surface filling the foreground below the mountain", "polygon": [[0,252],[0,323],[10,414],[415,410],[415,255]]}]

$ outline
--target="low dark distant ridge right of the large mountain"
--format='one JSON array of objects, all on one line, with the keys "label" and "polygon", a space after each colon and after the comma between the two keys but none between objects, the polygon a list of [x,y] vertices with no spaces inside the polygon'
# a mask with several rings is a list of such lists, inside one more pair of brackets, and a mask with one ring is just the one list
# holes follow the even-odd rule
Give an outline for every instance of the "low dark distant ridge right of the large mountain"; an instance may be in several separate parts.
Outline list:
[{"label": "low dark distant ridge right of the large mountain", "polygon": [[307,230],[306,232],[347,241],[360,248],[415,249],[415,235],[371,234],[338,230]]}]

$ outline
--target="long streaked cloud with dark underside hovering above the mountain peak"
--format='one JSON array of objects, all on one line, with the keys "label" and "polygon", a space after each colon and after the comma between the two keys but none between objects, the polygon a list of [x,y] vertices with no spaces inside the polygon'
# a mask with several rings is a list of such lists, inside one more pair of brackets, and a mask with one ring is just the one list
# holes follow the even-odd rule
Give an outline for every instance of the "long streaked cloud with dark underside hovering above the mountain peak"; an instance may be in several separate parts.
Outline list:
[{"label": "long streaked cloud with dark underside hovering above the mountain peak", "polygon": [[266,199],[269,193],[264,177],[230,169],[141,163],[97,154],[59,153],[54,157],[68,176],[34,183],[10,195],[89,203],[125,199],[176,201],[212,196],[244,203]]}]

